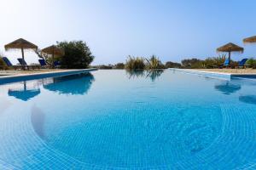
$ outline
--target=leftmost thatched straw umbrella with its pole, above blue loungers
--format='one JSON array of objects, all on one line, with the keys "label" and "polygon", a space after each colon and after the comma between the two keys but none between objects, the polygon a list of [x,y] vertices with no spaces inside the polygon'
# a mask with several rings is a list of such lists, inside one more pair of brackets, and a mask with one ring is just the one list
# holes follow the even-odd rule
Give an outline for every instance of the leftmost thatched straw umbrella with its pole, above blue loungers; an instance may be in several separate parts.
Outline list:
[{"label": "leftmost thatched straw umbrella with its pole, above blue loungers", "polygon": [[5,50],[9,49],[21,49],[22,59],[24,59],[24,49],[34,49],[37,50],[38,46],[32,42],[28,42],[25,39],[17,39],[14,42],[10,42],[4,46]]}]

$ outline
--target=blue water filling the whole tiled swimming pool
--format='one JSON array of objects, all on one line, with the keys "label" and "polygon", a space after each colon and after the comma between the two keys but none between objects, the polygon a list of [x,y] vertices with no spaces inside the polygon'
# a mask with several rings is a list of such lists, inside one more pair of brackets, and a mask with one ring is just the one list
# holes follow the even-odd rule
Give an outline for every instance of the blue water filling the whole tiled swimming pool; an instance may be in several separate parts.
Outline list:
[{"label": "blue water filling the whole tiled swimming pool", "polygon": [[255,168],[255,80],[94,71],[0,86],[0,169]]}]

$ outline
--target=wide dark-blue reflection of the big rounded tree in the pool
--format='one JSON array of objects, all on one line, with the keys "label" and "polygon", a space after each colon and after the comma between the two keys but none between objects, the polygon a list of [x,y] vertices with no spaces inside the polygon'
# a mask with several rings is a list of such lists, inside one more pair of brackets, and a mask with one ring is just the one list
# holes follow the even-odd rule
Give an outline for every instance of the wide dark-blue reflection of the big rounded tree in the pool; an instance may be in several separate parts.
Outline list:
[{"label": "wide dark-blue reflection of the big rounded tree in the pool", "polygon": [[54,77],[53,82],[44,84],[44,88],[59,94],[87,94],[94,80],[93,75],[90,73]]}]

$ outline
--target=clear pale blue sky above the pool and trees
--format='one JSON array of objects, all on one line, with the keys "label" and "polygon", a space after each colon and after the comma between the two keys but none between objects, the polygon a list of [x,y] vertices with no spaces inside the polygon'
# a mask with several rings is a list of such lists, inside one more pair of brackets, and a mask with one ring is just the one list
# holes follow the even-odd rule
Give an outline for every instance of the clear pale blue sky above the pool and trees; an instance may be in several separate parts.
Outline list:
[{"label": "clear pale blue sky above the pool and trees", "polygon": [[[162,61],[216,56],[227,42],[244,46],[256,35],[254,0],[9,0],[1,2],[0,51],[12,61],[20,53],[3,45],[23,37],[38,45],[83,40],[93,64],[124,62],[131,54],[156,54]],[[256,57],[256,45],[244,54]],[[37,60],[26,53],[26,60]]]}]

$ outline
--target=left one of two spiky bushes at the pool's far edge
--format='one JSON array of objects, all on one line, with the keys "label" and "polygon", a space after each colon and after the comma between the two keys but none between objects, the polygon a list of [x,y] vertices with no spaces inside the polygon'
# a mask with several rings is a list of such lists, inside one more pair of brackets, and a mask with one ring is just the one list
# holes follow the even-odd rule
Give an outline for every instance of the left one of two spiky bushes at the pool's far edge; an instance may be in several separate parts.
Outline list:
[{"label": "left one of two spiky bushes at the pool's far edge", "polygon": [[125,63],[125,69],[128,70],[143,70],[145,69],[145,59],[143,57],[131,57],[129,55]]}]

